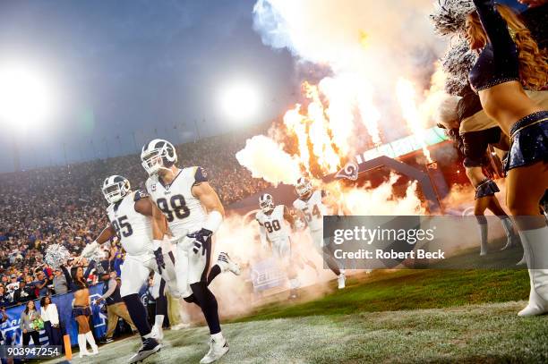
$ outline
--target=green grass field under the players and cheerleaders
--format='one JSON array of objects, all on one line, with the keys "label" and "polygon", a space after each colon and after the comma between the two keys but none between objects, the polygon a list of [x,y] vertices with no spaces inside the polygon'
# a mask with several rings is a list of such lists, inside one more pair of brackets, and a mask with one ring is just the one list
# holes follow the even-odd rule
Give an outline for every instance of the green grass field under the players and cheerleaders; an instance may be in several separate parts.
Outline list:
[{"label": "green grass field under the players and cheerleaders", "polygon": [[[516,315],[527,303],[525,269],[374,271],[311,300],[316,289],[223,320],[230,351],[220,362],[548,362],[548,316]],[[203,326],[167,331],[146,362],[198,362],[207,340]],[[139,345],[127,338],[74,362],[123,363]]]}]

